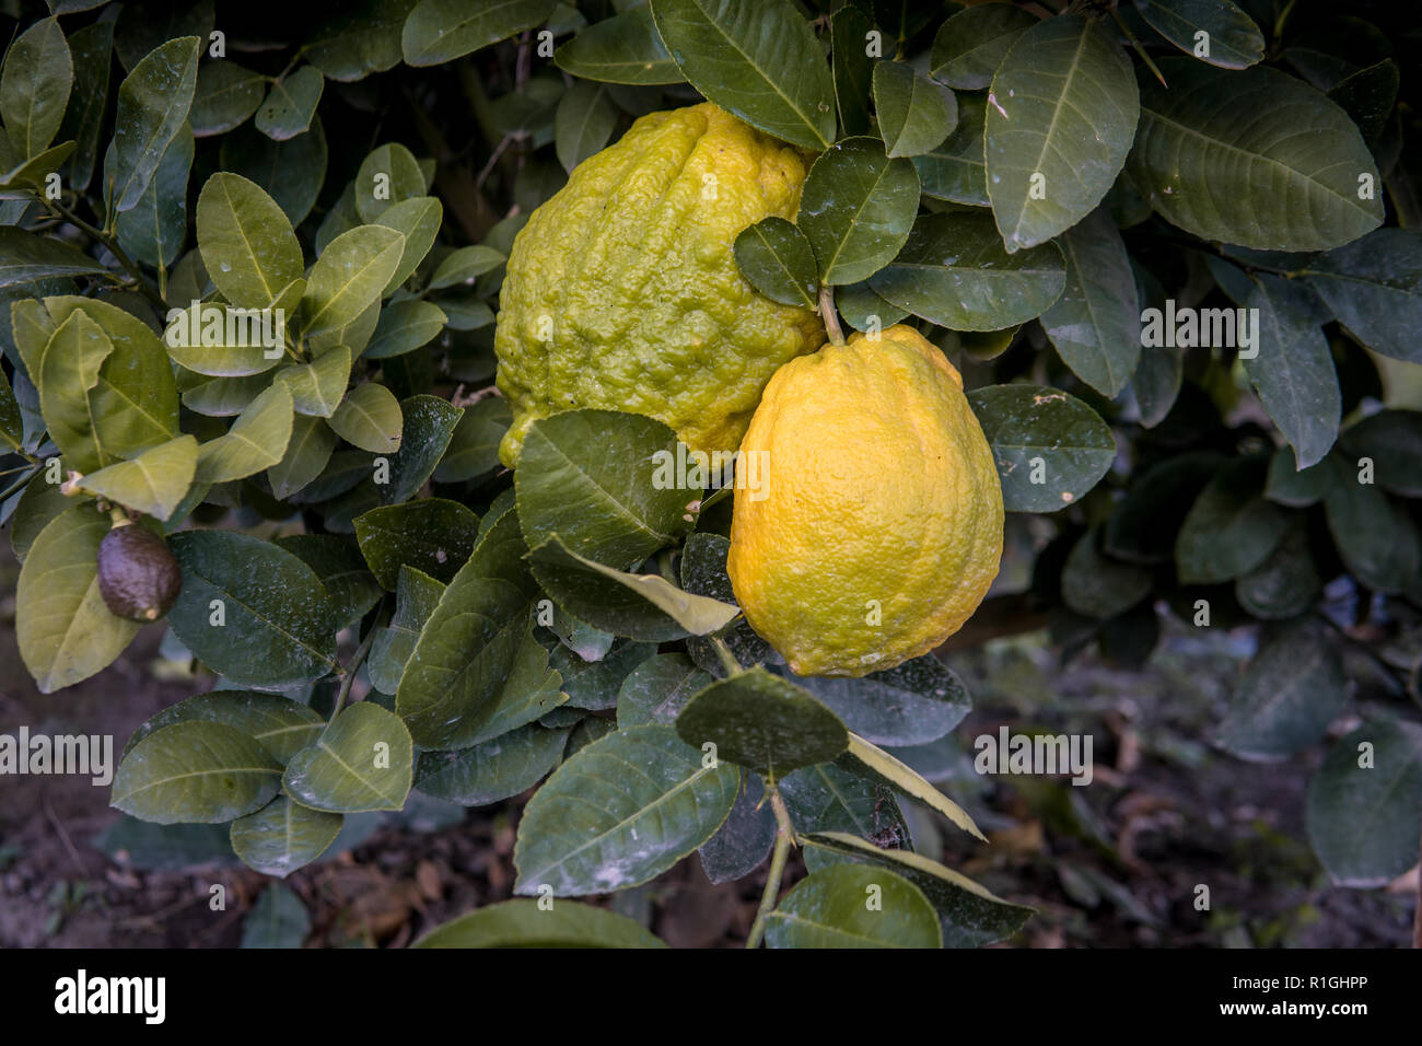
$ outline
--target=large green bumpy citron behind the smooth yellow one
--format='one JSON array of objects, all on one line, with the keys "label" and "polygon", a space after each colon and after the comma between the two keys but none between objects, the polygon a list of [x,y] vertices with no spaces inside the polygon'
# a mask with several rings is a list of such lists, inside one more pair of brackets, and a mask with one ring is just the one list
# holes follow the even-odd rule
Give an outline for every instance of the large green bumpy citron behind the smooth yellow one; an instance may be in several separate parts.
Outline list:
[{"label": "large green bumpy citron behind the smooth yellow one", "polygon": [[579,164],[509,255],[501,460],[515,464],[533,421],[579,407],[734,451],[771,374],[825,340],[813,312],[757,293],[732,253],[748,225],[795,218],[803,181],[799,151],[710,102],[641,117]]}]

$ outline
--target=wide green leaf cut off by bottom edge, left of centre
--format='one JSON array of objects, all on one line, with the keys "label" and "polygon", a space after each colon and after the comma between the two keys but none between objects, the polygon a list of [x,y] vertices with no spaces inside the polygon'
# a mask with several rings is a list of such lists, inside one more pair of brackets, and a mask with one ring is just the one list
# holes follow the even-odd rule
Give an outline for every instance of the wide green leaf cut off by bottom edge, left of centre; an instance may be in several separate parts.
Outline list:
[{"label": "wide green leaf cut off by bottom edge, left of centre", "polygon": [[586,904],[502,901],[435,926],[414,948],[664,948],[626,915]]}]

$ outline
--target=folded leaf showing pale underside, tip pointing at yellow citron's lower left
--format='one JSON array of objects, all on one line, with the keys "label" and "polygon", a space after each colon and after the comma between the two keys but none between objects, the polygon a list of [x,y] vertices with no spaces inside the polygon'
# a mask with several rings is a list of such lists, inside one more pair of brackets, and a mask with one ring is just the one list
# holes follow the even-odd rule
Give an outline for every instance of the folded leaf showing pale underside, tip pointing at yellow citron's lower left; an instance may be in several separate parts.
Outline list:
[{"label": "folded leaf showing pale underside, tip pointing at yellow citron's lower left", "polygon": [[589,625],[647,642],[717,632],[741,611],[698,596],[658,574],[627,574],[569,551],[550,534],[529,552],[533,576],[553,601]]}]

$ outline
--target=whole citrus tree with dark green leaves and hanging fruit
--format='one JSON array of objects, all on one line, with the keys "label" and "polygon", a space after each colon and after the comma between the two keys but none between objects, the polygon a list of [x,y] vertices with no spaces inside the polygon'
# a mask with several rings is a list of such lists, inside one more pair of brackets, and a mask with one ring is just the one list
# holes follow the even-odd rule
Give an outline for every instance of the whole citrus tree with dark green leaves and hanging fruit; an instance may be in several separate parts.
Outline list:
[{"label": "whole citrus tree with dark green leaves and hanging fruit", "polygon": [[1422,127],[1385,6],[23,7],[20,650],[63,700],[162,619],[209,680],[128,740],[125,814],[286,877],[415,793],[538,786],[526,899],[429,945],[657,944],[565,898],[693,852],[769,858],[752,945],[1007,939],[1031,909],[900,805],[981,838],[929,780],[970,709],[933,649],[1005,534],[1032,581],[987,630],[1045,608],[1130,666],[1162,613],[1257,625],[1206,740],[1347,724],[1318,858],[1416,862]]}]

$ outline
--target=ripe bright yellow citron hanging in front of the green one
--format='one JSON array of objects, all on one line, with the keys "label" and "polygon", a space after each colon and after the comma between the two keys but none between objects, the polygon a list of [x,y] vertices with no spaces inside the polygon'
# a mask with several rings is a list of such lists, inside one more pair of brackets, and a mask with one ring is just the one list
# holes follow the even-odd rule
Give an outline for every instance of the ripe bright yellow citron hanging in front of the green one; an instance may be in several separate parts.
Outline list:
[{"label": "ripe bright yellow citron hanging in front of the green one", "polygon": [[997,576],[1003,490],[963,379],[916,330],[791,360],[741,443],[728,569],[799,675],[863,676],[957,632]]}]

